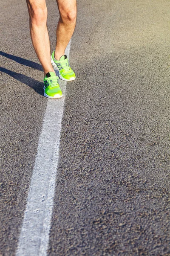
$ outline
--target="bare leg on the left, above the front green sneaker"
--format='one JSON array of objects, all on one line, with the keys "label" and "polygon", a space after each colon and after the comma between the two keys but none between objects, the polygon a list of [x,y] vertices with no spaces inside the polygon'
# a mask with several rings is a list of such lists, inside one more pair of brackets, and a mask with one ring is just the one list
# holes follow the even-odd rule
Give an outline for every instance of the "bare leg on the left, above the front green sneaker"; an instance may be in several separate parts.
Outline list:
[{"label": "bare leg on the left, above the front green sneaker", "polygon": [[26,0],[30,17],[30,34],[44,75],[54,72],[51,65],[50,41],[47,30],[47,7],[45,0]]}]

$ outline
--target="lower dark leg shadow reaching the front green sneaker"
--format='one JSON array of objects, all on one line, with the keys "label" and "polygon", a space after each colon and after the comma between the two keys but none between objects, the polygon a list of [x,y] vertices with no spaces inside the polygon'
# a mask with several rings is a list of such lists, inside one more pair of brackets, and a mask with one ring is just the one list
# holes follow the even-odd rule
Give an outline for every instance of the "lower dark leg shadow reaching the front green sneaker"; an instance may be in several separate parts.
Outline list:
[{"label": "lower dark leg shadow reaching the front green sneaker", "polygon": [[20,81],[22,83],[28,85],[29,87],[34,89],[34,91],[36,93],[39,93],[40,95],[44,94],[43,83],[42,82],[37,81],[37,80],[35,80],[35,79],[33,79],[33,78],[29,77],[29,76],[25,76],[23,74],[20,74],[20,73],[11,71],[11,70],[7,70],[6,68],[3,68],[3,67],[0,67],[0,71],[3,72],[3,73],[8,74],[9,76],[13,77],[14,79],[17,79],[18,81]]}]

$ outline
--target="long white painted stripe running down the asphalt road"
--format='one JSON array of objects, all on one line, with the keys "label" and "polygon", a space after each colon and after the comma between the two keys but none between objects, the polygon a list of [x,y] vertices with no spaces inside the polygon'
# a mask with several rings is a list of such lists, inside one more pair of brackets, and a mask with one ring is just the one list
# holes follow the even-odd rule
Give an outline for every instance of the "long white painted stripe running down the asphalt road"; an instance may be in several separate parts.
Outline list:
[{"label": "long white painted stripe running down the asphalt road", "polygon": [[64,96],[47,102],[16,256],[47,255],[66,81],[60,85]]}]

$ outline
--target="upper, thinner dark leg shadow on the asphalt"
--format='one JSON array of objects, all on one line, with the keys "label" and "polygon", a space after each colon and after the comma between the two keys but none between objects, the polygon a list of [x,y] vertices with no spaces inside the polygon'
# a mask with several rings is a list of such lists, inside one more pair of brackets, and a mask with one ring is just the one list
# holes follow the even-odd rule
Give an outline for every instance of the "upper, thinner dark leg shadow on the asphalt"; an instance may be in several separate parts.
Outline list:
[{"label": "upper, thinner dark leg shadow on the asphalt", "polygon": [[0,51],[0,55],[4,56],[6,58],[9,58],[13,61],[16,61],[17,63],[23,64],[27,67],[32,67],[34,69],[43,71],[42,66],[40,64],[37,64],[34,61],[28,61],[25,58],[20,58],[20,57],[17,57],[17,56],[14,56],[14,55],[8,54],[6,52],[2,52],[2,51]]}]

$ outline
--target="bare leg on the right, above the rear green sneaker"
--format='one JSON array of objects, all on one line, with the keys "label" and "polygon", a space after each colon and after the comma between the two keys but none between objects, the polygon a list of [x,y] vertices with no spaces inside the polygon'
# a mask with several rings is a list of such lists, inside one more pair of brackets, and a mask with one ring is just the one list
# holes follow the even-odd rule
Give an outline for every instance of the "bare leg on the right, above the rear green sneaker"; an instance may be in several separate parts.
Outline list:
[{"label": "bare leg on the right, above the rear green sneaker", "polygon": [[57,5],[60,17],[56,32],[55,58],[59,60],[65,54],[65,48],[73,35],[76,26],[77,6],[76,0],[57,0]]}]

